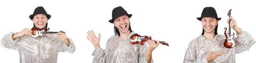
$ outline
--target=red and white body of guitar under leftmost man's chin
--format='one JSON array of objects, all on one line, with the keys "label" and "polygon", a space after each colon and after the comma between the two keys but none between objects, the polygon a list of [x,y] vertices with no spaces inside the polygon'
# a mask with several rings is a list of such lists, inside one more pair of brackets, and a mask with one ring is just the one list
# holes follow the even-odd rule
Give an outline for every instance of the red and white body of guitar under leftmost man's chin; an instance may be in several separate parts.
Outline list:
[{"label": "red and white body of guitar under leftmost man's chin", "polygon": [[32,30],[32,36],[31,37],[36,38],[36,37],[39,37],[39,36],[44,37],[43,32],[49,30],[49,28],[48,29],[44,28],[44,29],[39,30],[36,27],[33,27],[31,30]]}]

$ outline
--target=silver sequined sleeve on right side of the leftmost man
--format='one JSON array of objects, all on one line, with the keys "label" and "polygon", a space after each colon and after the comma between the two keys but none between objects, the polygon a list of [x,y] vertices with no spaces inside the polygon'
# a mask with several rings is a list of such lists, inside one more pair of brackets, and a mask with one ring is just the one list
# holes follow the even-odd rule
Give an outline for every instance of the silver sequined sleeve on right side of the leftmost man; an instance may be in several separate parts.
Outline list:
[{"label": "silver sequined sleeve on right side of the leftmost man", "polygon": [[67,45],[65,42],[62,41],[59,47],[59,52],[70,52],[70,53],[74,53],[76,51],[76,46],[73,43],[73,40],[71,38],[67,38],[69,41],[69,44]]}]

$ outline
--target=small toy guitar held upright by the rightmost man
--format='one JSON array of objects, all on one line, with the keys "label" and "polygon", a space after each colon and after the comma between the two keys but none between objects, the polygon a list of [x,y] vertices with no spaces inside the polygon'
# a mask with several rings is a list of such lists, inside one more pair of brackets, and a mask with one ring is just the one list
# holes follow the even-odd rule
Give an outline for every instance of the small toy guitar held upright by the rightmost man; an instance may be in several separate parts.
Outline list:
[{"label": "small toy guitar held upright by the rightmost man", "polygon": [[[230,9],[229,11],[228,11],[228,16],[230,17],[230,15],[231,15],[231,10],[232,9]],[[225,36],[226,36],[226,39],[224,40],[224,46],[226,47],[226,48],[233,48],[233,47],[235,47],[236,46],[236,43],[235,43],[235,40],[233,40],[233,37],[235,36],[235,33],[233,32],[233,35],[231,35],[231,28],[230,28],[230,19],[229,19],[229,30],[228,30],[228,33],[226,33],[226,31],[227,31],[227,28],[224,28],[225,29],[225,32],[224,32],[224,34],[225,34]],[[227,35],[228,34],[228,35]]]}]

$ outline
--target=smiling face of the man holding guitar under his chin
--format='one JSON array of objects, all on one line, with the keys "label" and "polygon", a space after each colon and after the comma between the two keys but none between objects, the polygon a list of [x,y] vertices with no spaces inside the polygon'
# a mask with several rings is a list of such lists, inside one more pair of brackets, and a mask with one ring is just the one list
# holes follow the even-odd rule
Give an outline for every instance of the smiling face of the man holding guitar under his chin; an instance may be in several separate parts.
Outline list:
[{"label": "smiling face of the man holding guitar under his chin", "polygon": [[33,23],[35,24],[35,27],[38,29],[45,28],[47,22],[48,18],[45,14],[36,14],[33,18]]}]

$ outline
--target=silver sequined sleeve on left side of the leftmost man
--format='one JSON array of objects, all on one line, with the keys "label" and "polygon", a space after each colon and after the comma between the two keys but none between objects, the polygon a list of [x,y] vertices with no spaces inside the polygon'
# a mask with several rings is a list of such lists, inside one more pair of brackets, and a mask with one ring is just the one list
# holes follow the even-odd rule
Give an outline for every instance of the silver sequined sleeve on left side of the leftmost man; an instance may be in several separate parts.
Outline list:
[{"label": "silver sequined sleeve on left side of the leftmost man", "polygon": [[11,32],[9,34],[6,34],[3,38],[2,38],[2,46],[8,49],[14,49],[17,50],[20,46],[18,45],[18,41],[20,41],[20,37],[17,37],[15,40],[12,39],[12,35],[16,34],[14,32]]}]

